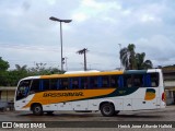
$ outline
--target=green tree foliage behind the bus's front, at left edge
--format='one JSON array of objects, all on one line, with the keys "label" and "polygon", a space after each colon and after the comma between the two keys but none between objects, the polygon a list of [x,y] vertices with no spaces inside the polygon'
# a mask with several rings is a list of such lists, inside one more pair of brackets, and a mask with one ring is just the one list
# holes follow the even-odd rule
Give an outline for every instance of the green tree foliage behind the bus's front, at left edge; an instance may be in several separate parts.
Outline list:
[{"label": "green tree foliage behind the bus's front, at left edge", "polygon": [[0,86],[16,86],[18,82],[26,76],[62,73],[57,68],[46,68],[46,63],[36,63],[33,68],[15,64],[14,70],[8,70],[9,68],[9,62],[0,57]]}]

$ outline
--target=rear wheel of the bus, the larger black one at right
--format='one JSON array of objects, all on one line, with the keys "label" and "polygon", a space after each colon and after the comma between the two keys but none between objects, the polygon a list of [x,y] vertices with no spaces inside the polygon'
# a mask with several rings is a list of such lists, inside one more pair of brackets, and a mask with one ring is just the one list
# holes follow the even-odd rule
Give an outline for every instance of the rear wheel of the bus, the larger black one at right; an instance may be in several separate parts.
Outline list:
[{"label": "rear wheel of the bus, the larger black one at right", "polygon": [[105,117],[112,117],[115,114],[114,105],[106,103],[103,104],[101,107],[101,114]]}]

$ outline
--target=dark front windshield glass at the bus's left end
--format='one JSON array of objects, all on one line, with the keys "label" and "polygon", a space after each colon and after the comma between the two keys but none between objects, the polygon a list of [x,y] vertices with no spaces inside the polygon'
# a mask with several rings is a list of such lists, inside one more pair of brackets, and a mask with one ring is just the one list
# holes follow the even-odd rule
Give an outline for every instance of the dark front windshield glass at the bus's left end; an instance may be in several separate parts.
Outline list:
[{"label": "dark front windshield glass at the bus's left end", "polygon": [[28,94],[31,80],[21,81],[16,91],[16,100],[25,98]]}]

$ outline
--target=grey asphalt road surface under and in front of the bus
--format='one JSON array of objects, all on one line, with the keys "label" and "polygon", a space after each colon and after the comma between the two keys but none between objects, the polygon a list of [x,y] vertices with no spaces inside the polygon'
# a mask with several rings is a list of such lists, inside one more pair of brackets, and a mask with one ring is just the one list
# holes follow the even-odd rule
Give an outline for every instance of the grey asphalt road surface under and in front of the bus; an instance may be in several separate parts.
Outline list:
[{"label": "grey asphalt road surface under and in front of the bus", "polygon": [[[27,127],[25,130],[48,130],[48,127],[57,127],[51,128],[49,130],[61,130],[61,131],[85,131],[85,130],[141,130],[140,127],[137,129],[131,129],[132,124],[139,123],[138,126],[149,124],[149,126],[159,126],[159,124],[170,124],[175,127],[175,106],[167,106],[164,109],[159,110],[140,110],[140,111],[121,111],[117,116],[114,117],[103,117],[101,112],[73,112],[73,111],[56,111],[54,115],[43,115],[43,116],[34,116],[32,112],[25,111],[5,111],[0,112],[0,121],[10,121],[10,122],[19,122],[19,123],[27,123],[31,126],[32,123],[45,123],[46,129],[30,129]],[[47,122],[48,121],[48,122]],[[112,124],[112,126],[110,126]],[[115,124],[115,127],[113,127]],[[125,127],[125,126],[130,127]],[[166,126],[167,126],[166,124]],[[42,126],[42,124],[40,124]],[[44,126],[44,124],[43,124]],[[80,127],[79,127],[80,126]],[[121,126],[121,128],[119,128]],[[75,127],[75,128],[72,128]],[[85,127],[85,128],[84,128]],[[16,127],[15,127],[16,128]],[[23,127],[22,127],[23,128]],[[1,129],[0,129],[1,130]],[[2,129],[5,130],[5,129]],[[19,129],[16,129],[19,130]],[[21,129],[20,130],[24,130]],[[170,127],[166,128],[144,128],[142,130],[175,130]]]}]

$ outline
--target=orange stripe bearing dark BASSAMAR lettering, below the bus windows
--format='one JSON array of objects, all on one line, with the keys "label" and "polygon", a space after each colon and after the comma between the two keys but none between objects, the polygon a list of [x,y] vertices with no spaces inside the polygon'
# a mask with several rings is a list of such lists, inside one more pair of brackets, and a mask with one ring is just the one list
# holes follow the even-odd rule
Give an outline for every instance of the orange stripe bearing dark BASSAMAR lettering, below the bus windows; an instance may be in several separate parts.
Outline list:
[{"label": "orange stripe bearing dark BASSAMAR lettering, below the bus windows", "polygon": [[66,103],[72,100],[82,100],[85,98],[101,97],[113,93],[116,88],[104,90],[71,90],[71,91],[47,91],[36,93],[32,100],[23,108],[28,108],[33,103],[42,105]]}]

